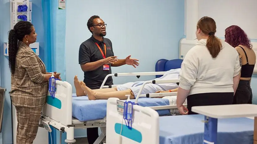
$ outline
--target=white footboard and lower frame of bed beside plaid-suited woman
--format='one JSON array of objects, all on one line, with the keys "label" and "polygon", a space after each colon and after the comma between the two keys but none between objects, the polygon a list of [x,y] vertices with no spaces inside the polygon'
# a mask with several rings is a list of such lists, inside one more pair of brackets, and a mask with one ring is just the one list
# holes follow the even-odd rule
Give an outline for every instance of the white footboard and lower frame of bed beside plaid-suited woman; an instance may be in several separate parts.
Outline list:
[{"label": "white footboard and lower frame of bed beside plaid-suited woman", "polygon": [[[60,100],[61,108],[59,109],[53,105],[50,105],[49,103],[46,103],[42,111],[41,121],[46,121],[49,125],[53,126],[61,132],[66,132],[67,136],[65,142],[68,144],[76,142],[76,140],[74,139],[74,129],[100,127],[102,133],[97,138],[95,143],[101,143],[101,141],[105,137],[106,118],[94,121],[79,121],[78,119],[73,118],[71,84],[66,81],[57,80],[55,87],[56,93],[54,99]],[[47,95],[47,97],[52,100],[49,91]]]}]

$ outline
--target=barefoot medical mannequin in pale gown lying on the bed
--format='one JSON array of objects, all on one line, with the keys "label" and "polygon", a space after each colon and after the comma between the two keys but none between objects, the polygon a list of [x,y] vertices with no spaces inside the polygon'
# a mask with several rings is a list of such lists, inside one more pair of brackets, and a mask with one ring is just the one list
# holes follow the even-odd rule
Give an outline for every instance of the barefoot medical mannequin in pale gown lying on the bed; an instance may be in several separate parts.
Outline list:
[{"label": "barefoot medical mannequin in pale gown lying on the bed", "polygon": [[[169,70],[165,72],[163,76],[161,76],[160,78],[156,78],[155,80],[178,79],[179,72],[180,72],[180,68]],[[130,99],[135,99],[142,84],[143,84],[143,81],[139,81],[139,82],[131,82],[131,83],[118,85],[115,88],[91,89],[91,88],[88,88],[84,82],[82,81],[80,82],[77,76],[74,77],[76,95],[77,96],[88,95],[89,100],[108,99],[110,97],[117,97],[121,100],[125,100],[127,99],[125,95],[130,95]],[[176,92],[177,88],[178,88],[178,85],[174,83],[146,84],[141,94]]]}]

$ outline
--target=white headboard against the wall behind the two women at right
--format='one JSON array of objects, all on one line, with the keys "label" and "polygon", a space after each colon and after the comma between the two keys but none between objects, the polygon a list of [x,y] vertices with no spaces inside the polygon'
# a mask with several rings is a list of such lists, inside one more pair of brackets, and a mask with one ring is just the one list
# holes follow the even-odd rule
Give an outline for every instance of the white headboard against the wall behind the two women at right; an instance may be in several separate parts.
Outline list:
[{"label": "white headboard against the wall behind the two women at right", "polygon": [[[186,40],[186,38],[182,38],[179,43],[179,58],[184,59],[187,51],[189,51],[192,47],[195,46],[198,40]],[[256,61],[257,61],[257,42],[251,42],[253,45],[253,50],[255,51]],[[257,62],[255,63],[253,74],[257,74]]]}]

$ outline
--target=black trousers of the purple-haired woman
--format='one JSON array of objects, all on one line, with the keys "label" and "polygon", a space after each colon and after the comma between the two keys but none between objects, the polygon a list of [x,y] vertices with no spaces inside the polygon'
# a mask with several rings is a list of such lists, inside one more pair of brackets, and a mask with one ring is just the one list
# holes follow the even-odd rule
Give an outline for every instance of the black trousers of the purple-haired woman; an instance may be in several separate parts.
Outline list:
[{"label": "black trousers of the purple-haired woman", "polygon": [[234,95],[233,104],[252,104],[253,94],[250,80],[240,80]]}]

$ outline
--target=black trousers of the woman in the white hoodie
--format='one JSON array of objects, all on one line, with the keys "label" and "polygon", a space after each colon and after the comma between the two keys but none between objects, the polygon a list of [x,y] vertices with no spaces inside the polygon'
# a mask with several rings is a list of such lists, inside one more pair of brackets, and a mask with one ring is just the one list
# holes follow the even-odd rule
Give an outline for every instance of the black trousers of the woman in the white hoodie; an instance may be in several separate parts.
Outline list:
[{"label": "black trousers of the woman in the white hoodie", "polygon": [[188,114],[198,114],[191,111],[192,106],[231,105],[234,93],[198,93],[187,96]]}]

